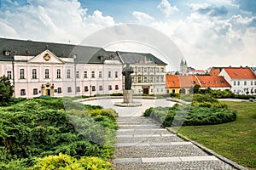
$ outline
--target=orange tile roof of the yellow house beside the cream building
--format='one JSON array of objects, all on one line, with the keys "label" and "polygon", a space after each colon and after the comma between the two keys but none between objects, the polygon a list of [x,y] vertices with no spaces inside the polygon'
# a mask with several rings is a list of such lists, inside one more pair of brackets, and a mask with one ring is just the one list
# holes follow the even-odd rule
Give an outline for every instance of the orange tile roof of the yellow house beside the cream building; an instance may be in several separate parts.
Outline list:
[{"label": "orange tile roof of the yellow house beside the cream building", "polygon": [[166,88],[190,88],[199,84],[195,76],[166,75]]}]

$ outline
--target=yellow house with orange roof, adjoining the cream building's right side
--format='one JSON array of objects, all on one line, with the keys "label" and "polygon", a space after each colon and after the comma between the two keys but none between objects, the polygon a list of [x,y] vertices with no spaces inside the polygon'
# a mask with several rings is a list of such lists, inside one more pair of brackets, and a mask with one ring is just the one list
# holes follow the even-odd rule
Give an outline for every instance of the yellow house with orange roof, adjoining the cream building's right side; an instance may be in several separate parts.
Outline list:
[{"label": "yellow house with orange roof, adjoining the cream building's right side", "polygon": [[166,94],[189,94],[195,84],[199,82],[194,75],[166,75]]}]

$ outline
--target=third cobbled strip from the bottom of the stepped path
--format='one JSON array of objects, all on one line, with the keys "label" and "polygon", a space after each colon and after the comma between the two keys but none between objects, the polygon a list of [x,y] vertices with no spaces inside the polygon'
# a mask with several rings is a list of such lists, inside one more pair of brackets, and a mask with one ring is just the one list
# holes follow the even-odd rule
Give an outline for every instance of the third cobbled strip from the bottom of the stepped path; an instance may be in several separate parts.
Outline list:
[{"label": "third cobbled strip from the bottom of the stepped path", "polygon": [[183,142],[183,139],[177,136],[160,136],[160,137],[119,137],[115,139],[116,143],[167,143],[167,142]]}]

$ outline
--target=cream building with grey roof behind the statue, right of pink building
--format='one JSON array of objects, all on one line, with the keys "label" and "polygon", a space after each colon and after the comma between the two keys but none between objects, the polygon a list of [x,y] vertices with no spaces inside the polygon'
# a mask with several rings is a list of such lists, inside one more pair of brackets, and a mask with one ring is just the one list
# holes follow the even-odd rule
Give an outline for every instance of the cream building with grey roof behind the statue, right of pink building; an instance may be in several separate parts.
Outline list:
[{"label": "cream building with grey roof behind the statue, right of pink building", "polygon": [[166,63],[152,54],[116,52],[123,65],[133,68],[134,94],[166,94]]}]

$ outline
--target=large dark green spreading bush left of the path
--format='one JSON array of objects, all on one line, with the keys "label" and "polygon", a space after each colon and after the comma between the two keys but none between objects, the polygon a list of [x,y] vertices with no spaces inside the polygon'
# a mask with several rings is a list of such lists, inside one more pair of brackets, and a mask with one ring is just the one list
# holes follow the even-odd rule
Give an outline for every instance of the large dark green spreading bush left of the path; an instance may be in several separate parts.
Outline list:
[{"label": "large dark green spreading bush left of the path", "polygon": [[10,167],[24,158],[28,167],[34,156],[59,153],[104,159],[113,155],[116,112],[80,105],[70,99],[65,101],[71,110],[64,111],[61,98],[27,99],[0,108],[2,167]]}]

